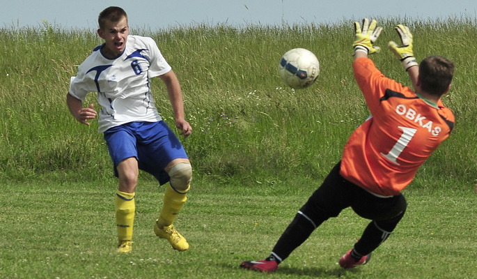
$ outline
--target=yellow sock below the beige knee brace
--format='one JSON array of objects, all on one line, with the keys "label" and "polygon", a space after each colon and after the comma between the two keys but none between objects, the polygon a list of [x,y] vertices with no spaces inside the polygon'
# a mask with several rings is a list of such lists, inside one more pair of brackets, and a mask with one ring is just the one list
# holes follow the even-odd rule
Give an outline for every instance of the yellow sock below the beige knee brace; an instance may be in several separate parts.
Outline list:
[{"label": "yellow sock below the beige knee brace", "polygon": [[175,217],[178,216],[180,209],[187,201],[187,192],[189,192],[190,186],[184,192],[178,192],[171,186],[167,187],[164,191],[164,203],[162,204],[161,213],[157,219],[157,225],[165,227],[171,225]]}]

